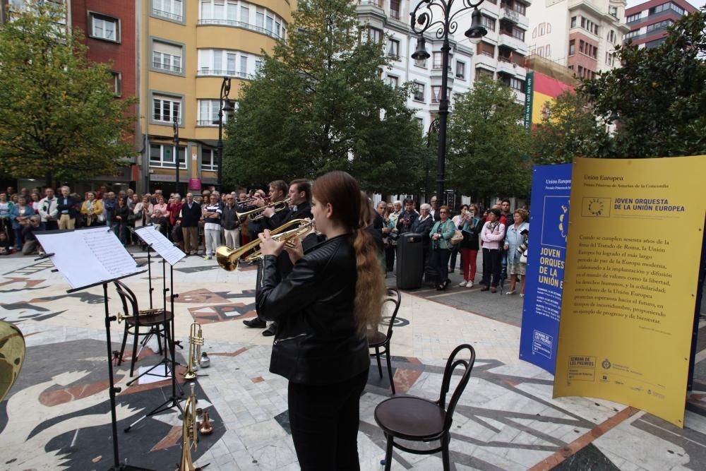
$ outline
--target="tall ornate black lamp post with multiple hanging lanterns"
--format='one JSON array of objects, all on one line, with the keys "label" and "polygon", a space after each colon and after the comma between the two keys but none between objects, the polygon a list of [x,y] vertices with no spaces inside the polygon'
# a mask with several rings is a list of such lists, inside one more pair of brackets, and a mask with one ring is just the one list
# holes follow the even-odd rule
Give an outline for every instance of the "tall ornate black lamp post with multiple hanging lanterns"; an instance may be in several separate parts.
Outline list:
[{"label": "tall ornate black lamp post with multiple hanging lanterns", "polygon": [[[471,27],[465,32],[466,37],[468,37],[472,42],[474,40],[479,41],[481,37],[488,34],[488,30],[483,26],[481,20],[481,12],[478,10],[478,6],[483,3],[484,0],[472,1],[472,0],[461,0],[462,5],[456,11],[453,10],[454,0],[421,0],[414,8],[409,16],[412,17],[411,25],[412,31],[419,34],[419,40],[417,40],[417,50],[412,53],[412,59],[414,60],[426,60],[429,59],[429,52],[426,52],[426,40],[424,39],[424,32],[429,30],[429,28],[436,28],[436,38],[443,39],[443,44],[441,46],[441,97],[439,100],[439,144],[438,144],[438,155],[436,160],[436,195],[437,198],[443,198],[443,186],[445,182],[445,165],[446,165],[446,120],[448,118],[448,94],[446,93],[446,86],[448,85],[448,61],[449,52],[451,47],[448,42],[449,33],[453,34],[458,24],[454,18],[469,8],[473,8],[473,13],[471,15]],[[439,18],[441,17],[441,18]]]}]

